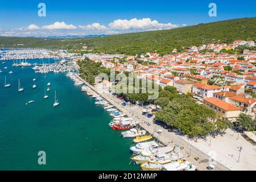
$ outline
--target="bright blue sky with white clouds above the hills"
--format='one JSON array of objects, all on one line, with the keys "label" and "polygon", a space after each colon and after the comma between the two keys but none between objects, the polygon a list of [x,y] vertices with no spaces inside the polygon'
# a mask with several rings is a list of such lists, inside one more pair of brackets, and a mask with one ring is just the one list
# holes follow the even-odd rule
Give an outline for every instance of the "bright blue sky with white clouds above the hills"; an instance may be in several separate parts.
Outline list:
[{"label": "bright blue sky with white clouds above the hills", "polygon": [[[40,2],[46,4],[46,17],[38,16]],[[217,5],[217,17],[208,15],[208,5],[211,2]],[[121,34],[163,30],[197,23],[253,17],[256,16],[255,7],[256,1],[251,0],[1,1],[0,35]]]}]

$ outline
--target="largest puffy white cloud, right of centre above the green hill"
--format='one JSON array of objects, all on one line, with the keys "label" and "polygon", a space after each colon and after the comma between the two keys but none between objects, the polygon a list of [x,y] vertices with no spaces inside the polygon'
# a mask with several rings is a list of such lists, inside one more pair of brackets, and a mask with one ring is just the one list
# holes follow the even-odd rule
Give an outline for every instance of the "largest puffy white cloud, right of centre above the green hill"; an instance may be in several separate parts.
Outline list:
[{"label": "largest puffy white cloud, right of centre above the green hill", "polygon": [[143,19],[118,19],[114,20],[114,22],[109,23],[109,27],[113,30],[162,30],[162,29],[171,29],[176,28],[179,25],[172,24],[172,23],[158,23],[157,20],[151,20],[150,18],[143,18]]}]

